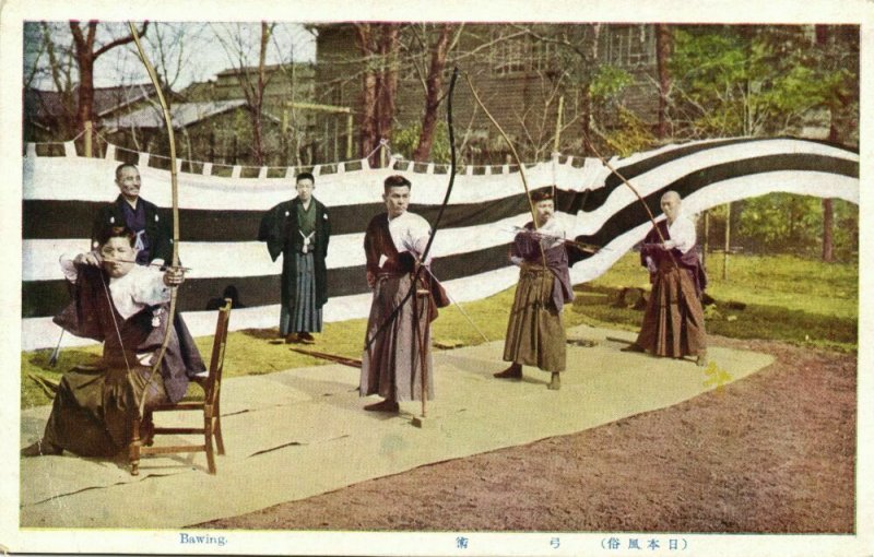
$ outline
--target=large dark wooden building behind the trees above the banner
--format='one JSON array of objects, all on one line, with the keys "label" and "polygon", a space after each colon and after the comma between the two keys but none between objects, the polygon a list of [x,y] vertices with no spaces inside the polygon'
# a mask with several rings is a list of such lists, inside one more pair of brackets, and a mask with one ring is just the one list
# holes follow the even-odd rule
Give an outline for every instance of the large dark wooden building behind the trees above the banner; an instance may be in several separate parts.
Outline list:
[{"label": "large dark wooden building behind the trees above the banner", "polygon": [[[315,95],[319,103],[344,106],[361,129],[364,74],[374,64],[394,64],[398,86],[389,145],[397,152],[397,133],[417,126],[425,107],[424,79],[430,62],[434,24],[400,26],[400,55],[394,60],[364,57],[355,24],[316,25]],[[457,34],[457,35],[456,35]],[[453,66],[466,72],[484,105],[529,161],[550,156],[560,130],[558,150],[582,154],[581,130],[597,120],[601,129],[619,123],[622,110],[643,126],[658,123],[658,76],[653,25],[465,24],[453,28],[444,87]],[[588,86],[598,68],[622,76],[615,95],[594,102]],[[456,88],[454,122],[458,144],[469,164],[505,162],[508,150],[465,80]],[[562,107],[559,123],[559,106]],[[441,107],[441,115],[444,114]],[[364,155],[366,153],[362,153]],[[410,156],[410,153],[402,153]]]}]

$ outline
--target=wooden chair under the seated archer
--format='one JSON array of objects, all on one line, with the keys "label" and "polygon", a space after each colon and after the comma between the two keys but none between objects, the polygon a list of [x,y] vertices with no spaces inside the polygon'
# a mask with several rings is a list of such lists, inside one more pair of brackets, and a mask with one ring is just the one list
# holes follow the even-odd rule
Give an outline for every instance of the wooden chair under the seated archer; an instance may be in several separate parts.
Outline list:
[{"label": "wooden chair under the seated archer", "polygon": [[[222,370],[224,368],[225,345],[227,344],[227,323],[231,319],[231,299],[225,298],[225,306],[218,310],[218,321],[215,325],[215,340],[212,344],[209,376],[203,379],[196,378],[203,388],[203,401],[180,401],[176,404],[158,404],[147,408],[142,418],[134,418],[133,431],[130,443],[130,473],[139,475],[140,455],[172,454],[179,452],[205,452],[210,474],[215,474],[215,458],[213,457],[213,440],[218,454],[225,453],[222,440]],[[153,427],[153,415],[157,412],[202,411],[203,427]],[[140,438],[141,431],[144,434]],[[154,437],[158,435],[202,435],[203,445],[180,445],[172,447],[152,447]]]}]

